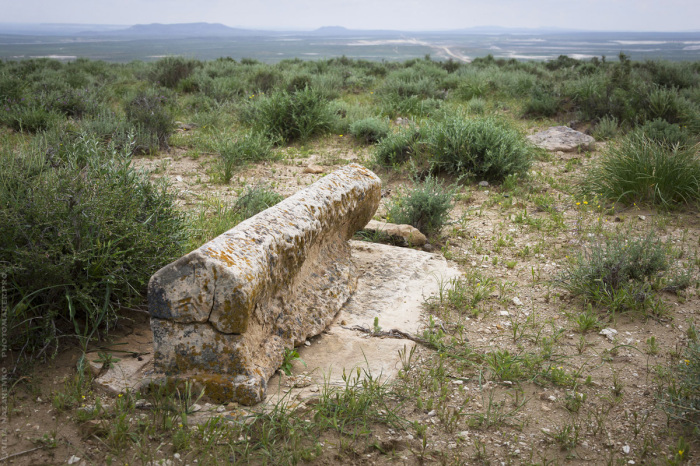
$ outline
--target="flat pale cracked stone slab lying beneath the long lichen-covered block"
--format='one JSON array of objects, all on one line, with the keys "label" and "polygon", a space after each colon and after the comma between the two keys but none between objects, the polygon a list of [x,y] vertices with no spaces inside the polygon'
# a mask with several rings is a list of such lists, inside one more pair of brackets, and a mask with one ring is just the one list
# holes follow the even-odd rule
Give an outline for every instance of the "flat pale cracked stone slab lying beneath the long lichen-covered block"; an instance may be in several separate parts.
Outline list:
[{"label": "flat pale cracked stone slab lying beneath the long lichen-covered block", "polygon": [[[360,368],[370,372],[373,377],[381,376],[387,380],[394,377],[401,367],[399,350],[405,347],[410,352],[415,345],[413,341],[369,337],[343,327],[358,325],[372,329],[377,317],[383,330],[398,329],[420,336],[425,300],[438,292],[439,280],[446,281],[461,275],[439,254],[364,241],[350,241],[349,244],[359,274],[357,290],[333,322],[319,336],[311,339],[309,346],[302,344],[297,348],[306,366],[296,361],[293,364],[294,377],[288,378],[278,373],[270,379],[266,403],[274,404],[283,396],[313,397],[326,381],[331,386],[343,387],[343,369],[347,373]],[[115,342],[114,347],[152,354],[152,335],[147,328],[140,330],[143,336],[137,341],[126,337]],[[152,358],[136,367],[131,360],[133,358],[120,354],[113,353],[120,360],[95,379],[98,387],[108,387],[105,389],[110,393],[119,393],[138,389],[152,380]],[[298,387],[290,386],[295,384]],[[222,403],[221,406],[227,406],[229,400],[218,401]],[[231,410],[208,411],[209,414],[202,414],[203,419],[212,415],[232,415],[228,412]],[[237,412],[240,414],[240,410]]]}]

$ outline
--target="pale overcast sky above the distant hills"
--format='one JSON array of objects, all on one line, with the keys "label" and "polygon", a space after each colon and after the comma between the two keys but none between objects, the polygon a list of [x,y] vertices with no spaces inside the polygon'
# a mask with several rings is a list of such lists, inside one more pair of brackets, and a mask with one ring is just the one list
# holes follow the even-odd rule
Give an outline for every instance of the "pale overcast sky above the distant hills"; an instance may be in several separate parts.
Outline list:
[{"label": "pale overcast sky above the distant hills", "polygon": [[0,22],[216,22],[264,29],[472,26],[700,30],[698,0],[0,0]]}]

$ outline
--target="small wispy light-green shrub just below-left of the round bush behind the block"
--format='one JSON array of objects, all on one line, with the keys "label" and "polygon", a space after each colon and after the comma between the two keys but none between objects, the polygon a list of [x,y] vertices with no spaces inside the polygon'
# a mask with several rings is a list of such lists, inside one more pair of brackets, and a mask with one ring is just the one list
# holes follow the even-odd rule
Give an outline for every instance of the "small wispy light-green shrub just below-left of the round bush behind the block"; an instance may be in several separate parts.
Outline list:
[{"label": "small wispy light-green shrub just below-left of the round bush behind the block", "polygon": [[219,153],[216,175],[220,182],[228,183],[237,168],[249,162],[258,162],[272,157],[272,142],[262,133],[250,131],[231,138],[219,135],[214,143]]}]

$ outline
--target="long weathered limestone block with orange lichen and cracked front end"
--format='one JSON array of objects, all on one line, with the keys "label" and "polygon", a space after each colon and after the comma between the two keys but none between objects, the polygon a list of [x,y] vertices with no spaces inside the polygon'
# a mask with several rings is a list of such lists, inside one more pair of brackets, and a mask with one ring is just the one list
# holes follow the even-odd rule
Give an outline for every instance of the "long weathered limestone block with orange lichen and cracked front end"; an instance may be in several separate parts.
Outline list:
[{"label": "long weathered limestone block with orange lichen and cracked front end", "polygon": [[354,291],[347,240],[380,198],[379,178],[348,165],[156,272],[156,370],[218,401],[261,401],[285,348],[323,331]]}]

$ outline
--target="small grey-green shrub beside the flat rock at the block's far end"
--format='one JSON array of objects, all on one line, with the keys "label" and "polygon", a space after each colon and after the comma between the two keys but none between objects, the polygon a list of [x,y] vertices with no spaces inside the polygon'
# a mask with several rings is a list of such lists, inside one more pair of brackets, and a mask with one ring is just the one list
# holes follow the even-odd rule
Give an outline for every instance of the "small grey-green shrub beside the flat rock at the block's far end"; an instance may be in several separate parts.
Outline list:
[{"label": "small grey-green shrub beside the flat rock at the block's far end", "polygon": [[439,234],[449,219],[456,192],[457,186],[445,186],[429,176],[391,200],[387,219],[392,223],[412,225],[426,235]]}]

